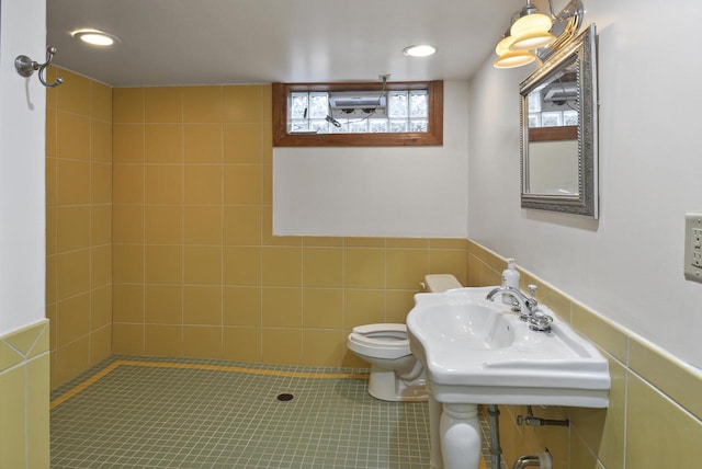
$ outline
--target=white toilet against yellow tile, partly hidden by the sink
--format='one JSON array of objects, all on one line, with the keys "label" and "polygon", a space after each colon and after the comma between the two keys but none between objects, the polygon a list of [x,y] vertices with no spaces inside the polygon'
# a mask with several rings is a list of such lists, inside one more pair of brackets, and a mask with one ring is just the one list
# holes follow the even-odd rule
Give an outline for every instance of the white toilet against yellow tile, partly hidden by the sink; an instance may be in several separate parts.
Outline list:
[{"label": "white toilet against yellow tile, partly hidden by the sink", "polygon": [[[428,293],[461,288],[450,274],[424,276]],[[369,393],[383,401],[426,401],[424,369],[409,350],[405,324],[365,324],[353,328],[347,346],[371,364]]]}]

